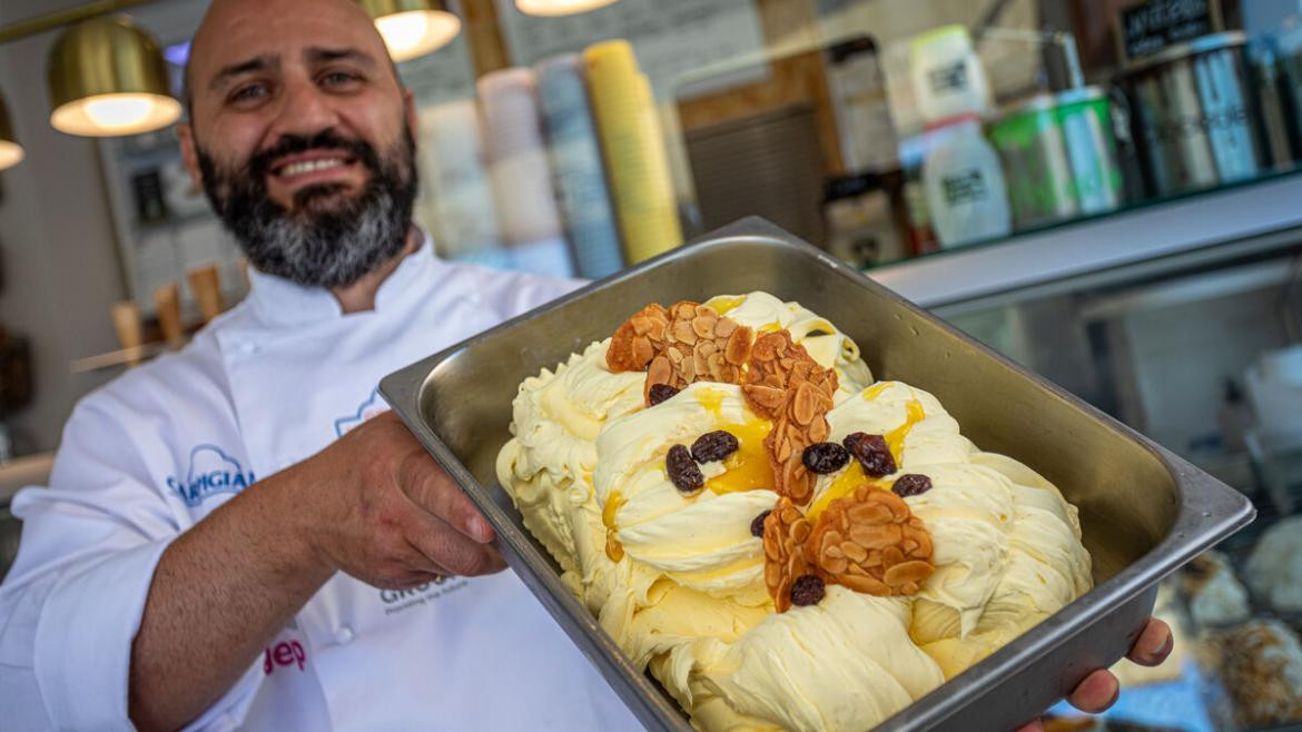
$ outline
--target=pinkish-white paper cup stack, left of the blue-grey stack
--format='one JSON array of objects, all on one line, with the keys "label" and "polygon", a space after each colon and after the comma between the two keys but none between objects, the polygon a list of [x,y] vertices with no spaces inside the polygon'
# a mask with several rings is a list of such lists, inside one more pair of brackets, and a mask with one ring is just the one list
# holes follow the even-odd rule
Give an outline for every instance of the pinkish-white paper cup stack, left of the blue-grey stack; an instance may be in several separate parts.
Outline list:
[{"label": "pinkish-white paper cup stack, left of the blue-grey stack", "polygon": [[543,145],[534,72],[501,69],[480,77],[477,86],[497,221],[517,268],[573,275]]}]

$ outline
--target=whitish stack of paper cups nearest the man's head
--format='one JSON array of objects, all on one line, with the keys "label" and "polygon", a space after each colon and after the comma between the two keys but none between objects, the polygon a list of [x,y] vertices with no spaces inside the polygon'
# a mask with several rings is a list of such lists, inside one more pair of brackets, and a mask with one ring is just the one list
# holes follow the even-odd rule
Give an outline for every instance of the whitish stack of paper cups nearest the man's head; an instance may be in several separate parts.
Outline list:
[{"label": "whitish stack of paper cups nearest the man's head", "polygon": [[423,208],[440,257],[506,268],[479,132],[474,99],[421,112]]}]

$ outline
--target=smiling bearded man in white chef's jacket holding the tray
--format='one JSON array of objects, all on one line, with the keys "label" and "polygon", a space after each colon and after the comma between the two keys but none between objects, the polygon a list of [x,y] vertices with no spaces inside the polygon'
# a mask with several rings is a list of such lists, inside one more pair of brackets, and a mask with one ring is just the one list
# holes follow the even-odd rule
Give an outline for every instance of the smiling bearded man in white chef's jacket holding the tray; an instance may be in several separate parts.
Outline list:
[{"label": "smiling bearded man in white chef's jacket holding the tray", "polygon": [[0,725],[635,727],[376,393],[573,284],[435,258],[413,96],[354,3],[216,0],[186,86],[185,162],[253,288],[85,399],[14,500]]}]

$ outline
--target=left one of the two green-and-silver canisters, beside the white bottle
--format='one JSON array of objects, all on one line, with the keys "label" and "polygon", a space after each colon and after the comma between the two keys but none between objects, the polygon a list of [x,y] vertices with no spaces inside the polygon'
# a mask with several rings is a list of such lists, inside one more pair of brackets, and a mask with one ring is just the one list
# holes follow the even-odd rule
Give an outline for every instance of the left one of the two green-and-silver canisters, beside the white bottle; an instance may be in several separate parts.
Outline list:
[{"label": "left one of the two green-and-silver canisters, beside the white bottle", "polygon": [[1039,95],[990,126],[1013,208],[1013,225],[1026,229],[1074,218],[1081,207],[1072,185],[1066,139],[1051,95]]}]

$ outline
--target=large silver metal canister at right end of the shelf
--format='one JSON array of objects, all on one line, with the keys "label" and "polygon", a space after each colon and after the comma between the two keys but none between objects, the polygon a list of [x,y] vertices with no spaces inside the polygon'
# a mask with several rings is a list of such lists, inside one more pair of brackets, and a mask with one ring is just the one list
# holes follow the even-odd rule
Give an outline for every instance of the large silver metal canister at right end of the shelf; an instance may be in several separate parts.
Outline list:
[{"label": "large silver metal canister at right end of the shelf", "polygon": [[1150,193],[1250,178],[1266,167],[1241,31],[1204,35],[1126,69]]}]

